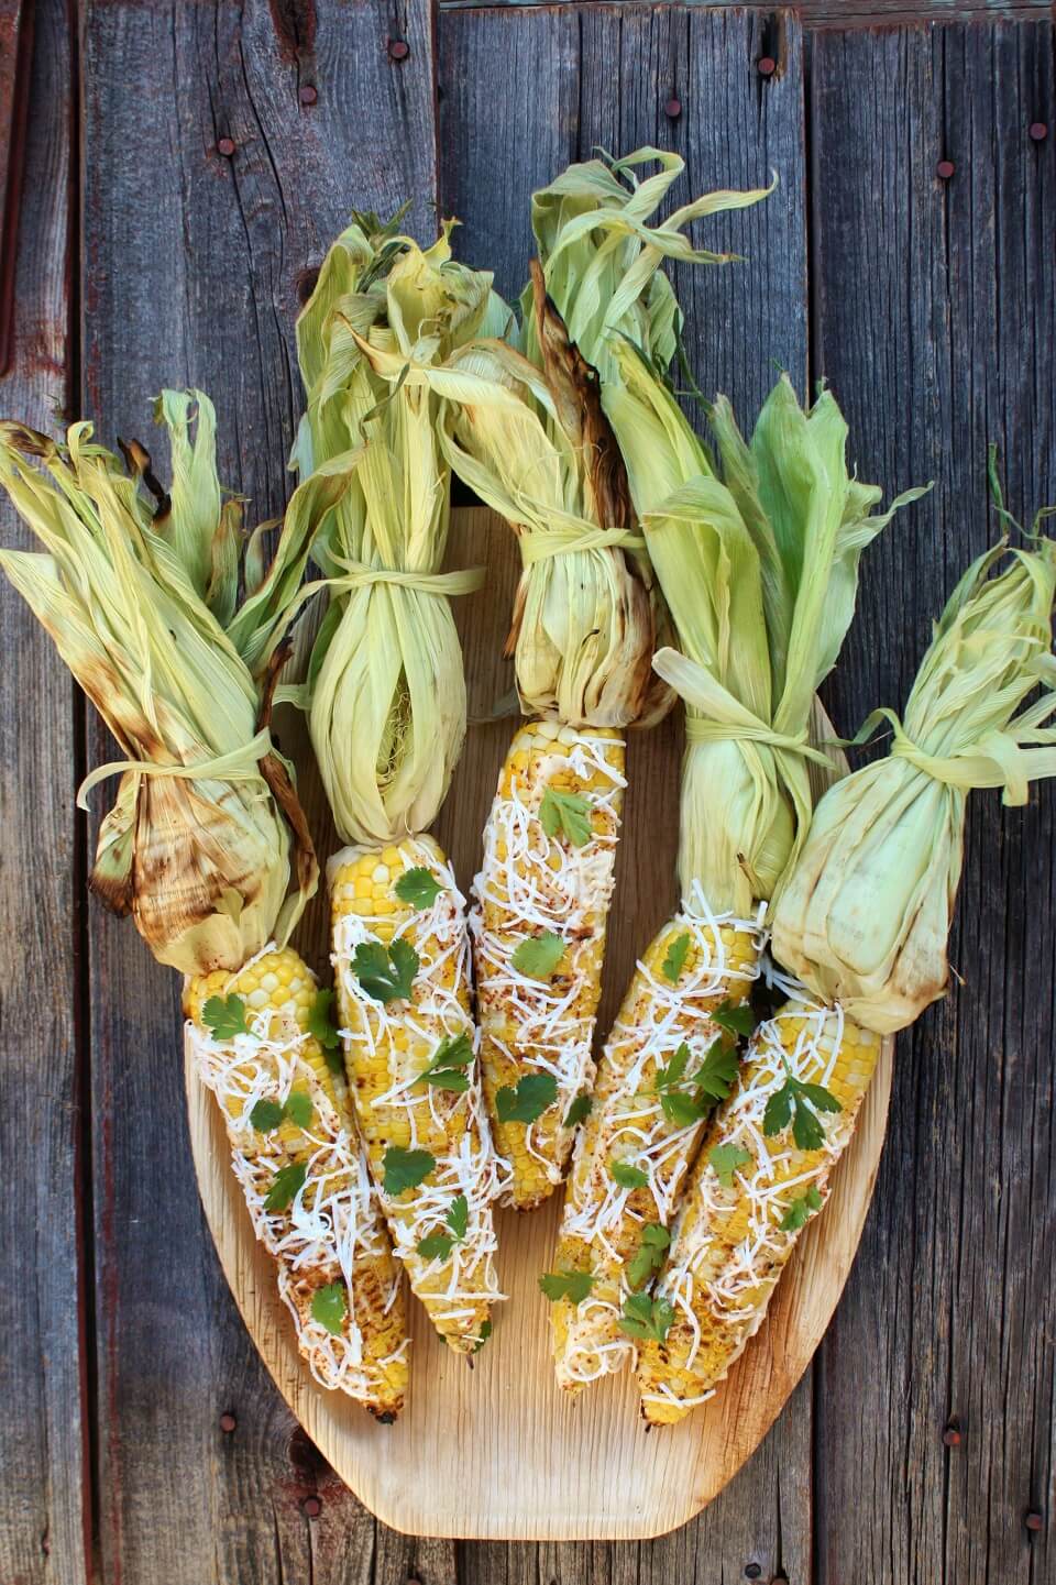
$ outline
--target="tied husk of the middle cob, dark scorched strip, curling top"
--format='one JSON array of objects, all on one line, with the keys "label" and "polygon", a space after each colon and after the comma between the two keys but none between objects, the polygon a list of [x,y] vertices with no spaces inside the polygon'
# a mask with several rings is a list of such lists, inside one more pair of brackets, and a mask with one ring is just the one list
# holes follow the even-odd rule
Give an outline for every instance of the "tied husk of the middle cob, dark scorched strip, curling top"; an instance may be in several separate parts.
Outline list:
[{"label": "tied husk of the middle cob, dark scorched strip, curling top", "polygon": [[[634,171],[650,162],[661,170],[639,184]],[[609,349],[633,336],[650,368],[666,369],[682,319],[663,260],[723,262],[682,228],[764,197],[710,193],[650,225],[682,170],[677,155],[639,149],[569,166],[534,195],[539,258],[522,298],[522,352],[477,338],[442,368],[376,360],[390,385],[425,382],[444,398],[444,455],[522,550],[506,648],[522,707],[576,728],[645,724],[671,704],[650,669],[668,617],[606,417],[618,379]]]}]

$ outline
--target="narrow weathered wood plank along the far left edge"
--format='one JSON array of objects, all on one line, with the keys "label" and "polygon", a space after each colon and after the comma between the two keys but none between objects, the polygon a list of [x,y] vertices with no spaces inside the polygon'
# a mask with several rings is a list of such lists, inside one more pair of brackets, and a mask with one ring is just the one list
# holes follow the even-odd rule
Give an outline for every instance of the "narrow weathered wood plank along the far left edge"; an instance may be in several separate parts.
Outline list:
[{"label": "narrow weathered wood plank along the far left edge", "polygon": [[[51,428],[67,404],[70,35],[36,8],[5,417]],[[30,534],[3,501],[5,545]],[[33,545],[33,548],[38,548]],[[79,910],[73,686],[0,579],[0,1579],[81,1585],[90,1495],[84,1441],[78,1167],[82,1130],[75,959]]]}]

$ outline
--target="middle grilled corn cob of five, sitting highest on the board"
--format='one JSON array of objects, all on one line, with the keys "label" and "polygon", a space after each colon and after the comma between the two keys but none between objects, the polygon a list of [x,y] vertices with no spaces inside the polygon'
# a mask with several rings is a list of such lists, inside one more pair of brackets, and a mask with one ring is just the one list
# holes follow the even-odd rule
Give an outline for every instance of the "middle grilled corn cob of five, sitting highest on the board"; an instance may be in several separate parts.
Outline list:
[{"label": "middle grilled corn cob of five, sitting highest on the board", "polygon": [[[625,785],[618,732],[536,721],[514,737],[485,829],[471,916],[480,1067],[496,1144],[512,1167],[503,1203],[522,1211],[561,1181],[574,1133],[568,1110],[595,1078]],[[542,964],[531,962],[533,943]]]}]

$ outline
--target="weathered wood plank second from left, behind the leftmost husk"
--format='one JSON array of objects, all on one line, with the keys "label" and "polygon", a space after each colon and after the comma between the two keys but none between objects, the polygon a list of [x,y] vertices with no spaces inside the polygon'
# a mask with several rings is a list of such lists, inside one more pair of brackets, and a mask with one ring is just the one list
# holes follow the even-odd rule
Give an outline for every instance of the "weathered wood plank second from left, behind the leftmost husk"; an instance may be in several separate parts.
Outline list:
[{"label": "weathered wood plank second from left, behind the leftmost husk", "polygon": [[[436,223],[430,6],[89,3],[84,40],[86,411],[108,441],[144,434],[163,382],[200,384],[222,479],[274,515],[306,271],[352,206],[411,195],[407,223]],[[95,723],[89,748],[109,758]],[[293,1434],[219,1271],[178,1030],[176,976],[92,908],[103,1577],[373,1579],[376,1526]]]}]

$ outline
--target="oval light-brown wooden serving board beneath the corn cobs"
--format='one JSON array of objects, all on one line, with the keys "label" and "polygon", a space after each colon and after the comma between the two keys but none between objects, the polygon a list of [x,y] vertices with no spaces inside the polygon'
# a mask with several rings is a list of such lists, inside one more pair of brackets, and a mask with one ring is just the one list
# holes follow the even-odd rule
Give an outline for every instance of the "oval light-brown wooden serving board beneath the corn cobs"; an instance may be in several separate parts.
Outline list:
[{"label": "oval light-brown wooden serving board beneath the corn cobs", "polygon": [[[461,602],[471,712],[484,715],[509,688],[498,666],[515,564],[509,529],[482,510],[457,514],[449,564],[488,563],[488,593]],[[511,723],[469,732],[439,824],[458,877],[473,875],[479,835]],[[817,737],[832,729],[818,712]],[[303,766],[284,732],[284,747]],[[680,724],[631,742],[629,791],[617,861],[618,881],[606,953],[599,1029],[612,1021],[634,954],[668,918]],[[311,775],[306,804],[311,804]],[[325,908],[314,907],[303,949],[325,953]],[[683,1525],[755,1452],[817,1349],[850,1271],[872,1198],[891,1092],[893,1041],[885,1041],[855,1138],[832,1195],[785,1271],[769,1314],[715,1398],[682,1425],[647,1434],[629,1376],[609,1377],[568,1400],[553,1382],[549,1306],[538,1274],[552,1266],[560,1195],[531,1216],[498,1217],[499,1278],[509,1303],[474,1368],[450,1354],[411,1301],[412,1368],[407,1407],[377,1425],[339,1393],[317,1387],[297,1352],[270,1257],[252,1236],[216,1103],[187,1064],[190,1141],[198,1187],[224,1273],[279,1392],[323,1457],[387,1525],[419,1536],[547,1541],[625,1541]]]}]

